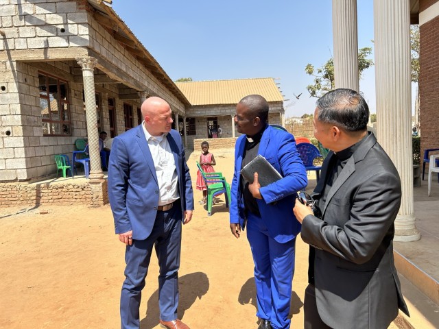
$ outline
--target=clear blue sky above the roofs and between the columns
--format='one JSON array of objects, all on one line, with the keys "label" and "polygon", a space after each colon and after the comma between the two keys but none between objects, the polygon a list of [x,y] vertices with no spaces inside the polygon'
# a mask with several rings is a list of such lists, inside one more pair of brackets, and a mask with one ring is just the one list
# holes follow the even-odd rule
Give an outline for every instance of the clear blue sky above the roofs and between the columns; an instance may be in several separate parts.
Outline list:
[{"label": "clear blue sky above the roofs and between the columns", "polygon": [[[374,47],[372,2],[357,1],[359,48]],[[172,80],[275,77],[285,106],[296,101],[287,117],[313,113],[305,66],[332,56],[332,1],[113,0],[112,7]],[[360,80],[372,113],[374,67]]]}]

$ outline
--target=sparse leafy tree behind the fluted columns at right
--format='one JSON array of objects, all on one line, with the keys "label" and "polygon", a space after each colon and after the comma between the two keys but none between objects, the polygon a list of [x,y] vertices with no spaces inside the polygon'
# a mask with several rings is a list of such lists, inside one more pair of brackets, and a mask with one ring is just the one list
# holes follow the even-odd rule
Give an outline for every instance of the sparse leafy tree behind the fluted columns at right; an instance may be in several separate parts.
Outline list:
[{"label": "sparse leafy tree behind the fluted columns at right", "polygon": [[[373,65],[373,60],[368,59],[371,53],[372,48],[370,47],[358,50],[358,79],[361,79],[364,70]],[[314,77],[314,83],[307,86],[309,97],[322,97],[329,90],[335,88],[334,60],[332,57],[319,69],[314,69],[312,64],[307,64],[305,73]]]}]

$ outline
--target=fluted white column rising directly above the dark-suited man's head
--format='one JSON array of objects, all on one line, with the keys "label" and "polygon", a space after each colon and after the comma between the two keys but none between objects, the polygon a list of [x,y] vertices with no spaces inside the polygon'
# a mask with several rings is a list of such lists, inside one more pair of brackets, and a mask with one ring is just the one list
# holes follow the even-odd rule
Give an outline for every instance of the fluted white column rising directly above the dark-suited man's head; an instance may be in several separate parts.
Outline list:
[{"label": "fluted white column rising directly above the dark-suited man's head", "polygon": [[357,0],[332,1],[335,88],[359,92]]}]

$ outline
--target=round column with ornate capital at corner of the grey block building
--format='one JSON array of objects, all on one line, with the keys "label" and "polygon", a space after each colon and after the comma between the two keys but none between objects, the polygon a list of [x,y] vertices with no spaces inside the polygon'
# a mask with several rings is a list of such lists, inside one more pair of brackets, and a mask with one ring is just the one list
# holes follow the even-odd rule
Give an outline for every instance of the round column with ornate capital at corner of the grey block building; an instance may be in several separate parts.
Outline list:
[{"label": "round column with ornate capital at corner of the grey block building", "polygon": [[96,99],[95,99],[95,75],[93,69],[97,59],[93,57],[76,58],[82,67],[82,79],[84,80],[84,98],[87,119],[88,151],[90,153],[91,180],[104,178],[101,169],[101,157],[99,155],[99,132],[97,131]]}]

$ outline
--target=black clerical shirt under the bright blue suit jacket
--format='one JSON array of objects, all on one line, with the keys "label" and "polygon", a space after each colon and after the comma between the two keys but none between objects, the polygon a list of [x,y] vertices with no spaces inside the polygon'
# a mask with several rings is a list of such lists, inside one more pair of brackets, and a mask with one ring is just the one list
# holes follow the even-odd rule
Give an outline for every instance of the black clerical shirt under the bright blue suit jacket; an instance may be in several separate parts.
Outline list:
[{"label": "black clerical shirt under the bright blue suit jacket", "polygon": [[[248,164],[248,162],[256,158],[256,156],[258,155],[259,143],[261,142],[262,134],[263,132],[265,132],[265,129],[267,129],[267,127],[268,125],[265,125],[265,127],[263,127],[260,132],[252,137],[246,136],[246,148],[244,149],[241,169],[244,168],[246,164]],[[248,189],[248,184],[250,184],[248,180],[246,180],[241,175],[241,191],[243,191],[244,195],[244,206],[246,207],[246,212],[250,211],[253,215],[261,217],[261,212],[259,212],[257,200],[253,197],[252,193],[250,193],[250,190]]]}]

